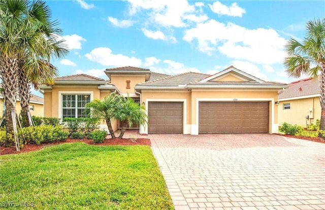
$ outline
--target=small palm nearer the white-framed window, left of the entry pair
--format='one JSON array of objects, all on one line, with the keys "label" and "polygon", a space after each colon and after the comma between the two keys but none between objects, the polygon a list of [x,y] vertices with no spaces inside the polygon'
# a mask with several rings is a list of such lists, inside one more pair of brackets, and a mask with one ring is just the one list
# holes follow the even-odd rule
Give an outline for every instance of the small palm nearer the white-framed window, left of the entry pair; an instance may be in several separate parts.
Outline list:
[{"label": "small palm nearer the white-framed window, left of the entry pair", "polygon": [[112,138],[115,138],[112,120],[114,120],[114,113],[116,113],[116,109],[118,108],[117,105],[121,104],[122,99],[123,98],[116,93],[111,93],[102,101],[99,99],[94,99],[86,105],[86,108],[91,108],[92,117],[100,118],[106,121]]}]

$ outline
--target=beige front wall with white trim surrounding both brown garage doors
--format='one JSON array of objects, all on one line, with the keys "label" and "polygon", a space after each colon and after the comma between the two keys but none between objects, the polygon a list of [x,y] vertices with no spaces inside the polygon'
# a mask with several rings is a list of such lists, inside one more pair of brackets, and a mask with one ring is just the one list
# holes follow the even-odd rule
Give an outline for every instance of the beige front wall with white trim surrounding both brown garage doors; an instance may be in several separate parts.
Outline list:
[{"label": "beige front wall with white trim surrounding both brown garage doors", "polygon": [[[184,134],[198,134],[198,103],[199,101],[269,101],[269,132],[278,132],[278,110],[275,109],[275,101],[278,100],[278,90],[234,90],[234,89],[202,89],[183,91],[144,91],[142,90],[142,101],[146,103],[148,110],[149,101],[184,101],[186,102],[186,124]],[[184,109],[185,109],[184,108]],[[143,128],[142,128],[143,129]]]}]

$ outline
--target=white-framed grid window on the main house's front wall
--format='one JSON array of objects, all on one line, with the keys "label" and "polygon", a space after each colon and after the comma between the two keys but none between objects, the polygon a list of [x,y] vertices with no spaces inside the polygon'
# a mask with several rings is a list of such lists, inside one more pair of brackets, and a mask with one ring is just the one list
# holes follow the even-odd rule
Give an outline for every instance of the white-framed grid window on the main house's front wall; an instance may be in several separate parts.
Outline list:
[{"label": "white-framed grid window on the main house's front wall", "polygon": [[90,102],[90,94],[62,94],[62,118],[87,117],[89,109],[86,104]]}]

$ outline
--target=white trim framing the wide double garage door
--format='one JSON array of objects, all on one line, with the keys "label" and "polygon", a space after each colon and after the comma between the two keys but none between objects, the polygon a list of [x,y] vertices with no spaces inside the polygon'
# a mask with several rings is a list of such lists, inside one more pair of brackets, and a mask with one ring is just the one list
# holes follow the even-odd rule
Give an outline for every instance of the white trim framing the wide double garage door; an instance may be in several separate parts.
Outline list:
[{"label": "white trim framing the wide double garage door", "polygon": [[200,101],[271,101],[271,133],[278,132],[278,124],[274,123],[274,98],[197,98],[196,124],[192,124],[191,134],[199,135],[199,102]]}]

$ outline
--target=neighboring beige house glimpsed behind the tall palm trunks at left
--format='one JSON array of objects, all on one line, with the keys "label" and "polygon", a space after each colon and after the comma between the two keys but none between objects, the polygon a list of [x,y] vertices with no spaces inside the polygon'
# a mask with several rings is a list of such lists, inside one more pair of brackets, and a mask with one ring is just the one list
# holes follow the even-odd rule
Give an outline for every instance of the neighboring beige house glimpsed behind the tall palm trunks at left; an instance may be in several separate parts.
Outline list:
[{"label": "neighboring beige house glimpsed behind the tall palm trunks at left", "polygon": [[[44,116],[44,100],[42,97],[37,95],[31,95],[30,101],[29,101],[29,111],[31,116],[37,116],[37,117],[43,117]],[[0,93],[0,107],[2,108],[1,117],[4,115],[6,111],[6,106],[4,103],[4,96]],[[19,96],[17,97],[16,102],[16,112],[19,115],[21,111],[20,106],[20,99]]]}]

